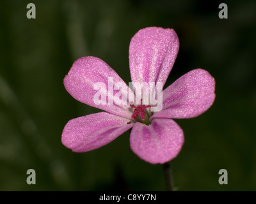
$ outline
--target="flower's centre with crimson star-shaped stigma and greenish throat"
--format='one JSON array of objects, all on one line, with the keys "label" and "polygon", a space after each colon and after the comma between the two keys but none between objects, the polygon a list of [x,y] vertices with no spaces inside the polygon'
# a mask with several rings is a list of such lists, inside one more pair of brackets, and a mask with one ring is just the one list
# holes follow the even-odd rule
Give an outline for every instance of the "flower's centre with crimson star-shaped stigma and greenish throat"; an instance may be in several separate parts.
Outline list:
[{"label": "flower's centre with crimson star-shaped stigma and greenish throat", "polygon": [[132,119],[137,119],[137,121],[142,122],[143,124],[149,125],[149,113],[146,110],[146,108],[150,108],[150,105],[142,105],[142,99],[140,99],[140,105],[134,106],[130,105],[132,108],[134,108],[134,111],[132,113]]}]

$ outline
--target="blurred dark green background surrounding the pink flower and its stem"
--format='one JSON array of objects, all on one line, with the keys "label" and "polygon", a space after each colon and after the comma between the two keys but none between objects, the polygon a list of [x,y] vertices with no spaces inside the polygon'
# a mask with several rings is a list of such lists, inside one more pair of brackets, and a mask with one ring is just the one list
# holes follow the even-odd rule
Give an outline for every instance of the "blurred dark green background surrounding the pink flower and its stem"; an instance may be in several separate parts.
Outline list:
[{"label": "blurred dark green background surrounding the pink flower and its stem", "polygon": [[[36,19],[26,5],[36,5]],[[220,19],[220,3],[228,19]],[[171,162],[177,191],[255,191],[255,1],[0,1],[0,190],[164,191],[163,168],[139,159],[129,132],[77,154],[61,143],[68,120],[99,110],[63,78],[79,57],[103,59],[131,82],[128,50],[144,27],[173,28],[180,50],[166,85],[191,69],[216,80],[214,105],[176,120],[185,143]],[[36,171],[28,185],[26,171]],[[228,171],[228,185],[218,171]]]}]

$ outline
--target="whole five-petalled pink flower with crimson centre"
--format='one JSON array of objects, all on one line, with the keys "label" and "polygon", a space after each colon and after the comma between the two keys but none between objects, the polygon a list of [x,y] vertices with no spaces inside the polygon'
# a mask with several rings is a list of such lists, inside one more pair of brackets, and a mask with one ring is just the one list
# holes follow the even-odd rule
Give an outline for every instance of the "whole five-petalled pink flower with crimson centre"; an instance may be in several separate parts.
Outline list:
[{"label": "whole five-petalled pink flower with crimson centre", "polygon": [[[162,82],[173,67],[179,38],[173,29],[147,27],[134,35],[129,47],[132,82]],[[163,109],[150,112],[150,104],[95,104],[93,89],[97,82],[124,83],[106,62],[97,57],[81,57],[74,62],[64,85],[78,101],[106,112],[93,113],[68,121],[61,142],[74,152],[102,147],[132,128],[130,145],[141,159],[163,164],[179,154],[184,143],[182,129],[173,119],[188,119],[204,113],[213,103],[215,81],[204,69],[189,71],[163,91]],[[127,91],[129,87],[126,85]],[[114,90],[113,95],[118,90]],[[112,99],[106,93],[107,99]],[[144,118],[144,119],[143,119]],[[147,120],[147,122],[146,122]],[[144,124],[145,123],[145,124]],[[147,125],[148,124],[148,125]]]}]

